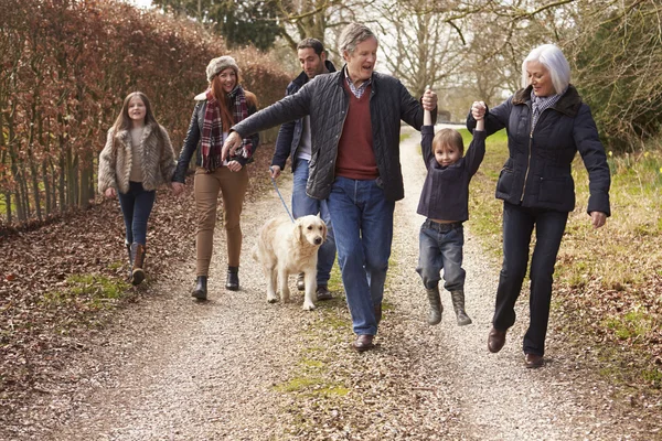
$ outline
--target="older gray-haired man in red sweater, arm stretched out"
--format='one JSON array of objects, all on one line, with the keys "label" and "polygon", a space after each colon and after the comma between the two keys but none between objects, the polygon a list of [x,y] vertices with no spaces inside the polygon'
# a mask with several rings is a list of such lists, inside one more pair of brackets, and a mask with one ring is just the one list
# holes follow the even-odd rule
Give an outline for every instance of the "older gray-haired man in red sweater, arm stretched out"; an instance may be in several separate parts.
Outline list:
[{"label": "older gray-haired man in red sweater, arm stretched out", "polygon": [[416,130],[424,107],[436,119],[437,95],[421,105],[393,76],[374,72],[378,42],[361,23],[340,37],[345,65],[235,125],[223,158],[242,138],[310,116],[312,151],[307,193],[328,200],[338,260],[359,351],[372,348],[382,320],[384,282],[393,239],[395,202],[404,197],[401,120]]}]

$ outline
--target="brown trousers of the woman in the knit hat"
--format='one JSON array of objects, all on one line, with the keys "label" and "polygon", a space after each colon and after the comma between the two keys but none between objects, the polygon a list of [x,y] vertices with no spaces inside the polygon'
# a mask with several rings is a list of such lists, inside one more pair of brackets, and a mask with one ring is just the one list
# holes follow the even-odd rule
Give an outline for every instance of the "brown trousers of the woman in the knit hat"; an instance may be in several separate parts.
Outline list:
[{"label": "brown trousers of the woman in the knit hat", "polygon": [[231,172],[226,166],[221,166],[212,173],[207,173],[205,169],[200,166],[195,170],[193,191],[197,211],[196,276],[209,276],[214,246],[218,191],[223,196],[223,224],[227,235],[227,265],[229,267],[239,266],[243,238],[239,220],[247,187],[248,172],[245,166],[238,172]]}]

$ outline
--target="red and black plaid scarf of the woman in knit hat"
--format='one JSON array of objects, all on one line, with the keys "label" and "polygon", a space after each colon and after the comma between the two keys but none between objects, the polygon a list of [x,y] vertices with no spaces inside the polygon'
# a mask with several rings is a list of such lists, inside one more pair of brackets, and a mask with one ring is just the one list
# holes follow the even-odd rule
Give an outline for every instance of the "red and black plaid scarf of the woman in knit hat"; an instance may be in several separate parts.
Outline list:
[{"label": "red and black plaid scarf of the woman in knit hat", "polygon": [[[221,151],[223,150],[223,122],[221,119],[221,106],[212,89],[206,90],[207,105],[202,121],[202,166],[209,172],[213,172],[223,165]],[[229,101],[234,104],[234,119],[239,122],[248,117],[248,106],[246,105],[246,95],[242,86],[236,85],[229,94]],[[229,127],[227,128],[229,130]],[[242,148],[233,158],[242,157],[249,159],[253,155],[253,142],[249,138],[242,140]]]}]

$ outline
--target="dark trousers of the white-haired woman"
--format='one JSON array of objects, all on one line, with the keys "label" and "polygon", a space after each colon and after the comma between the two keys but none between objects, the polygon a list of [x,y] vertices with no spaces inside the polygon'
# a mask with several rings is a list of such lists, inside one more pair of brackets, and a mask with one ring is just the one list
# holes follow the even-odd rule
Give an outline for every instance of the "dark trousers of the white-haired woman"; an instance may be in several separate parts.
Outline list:
[{"label": "dark trousers of the white-haired woman", "polygon": [[531,322],[524,335],[525,354],[545,354],[549,320],[554,263],[568,214],[554,209],[526,208],[503,204],[503,266],[496,289],[496,308],[492,324],[505,331],[515,323],[515,301],[528,265],[528,247],[535,226],[535,247],[531,260]]}]

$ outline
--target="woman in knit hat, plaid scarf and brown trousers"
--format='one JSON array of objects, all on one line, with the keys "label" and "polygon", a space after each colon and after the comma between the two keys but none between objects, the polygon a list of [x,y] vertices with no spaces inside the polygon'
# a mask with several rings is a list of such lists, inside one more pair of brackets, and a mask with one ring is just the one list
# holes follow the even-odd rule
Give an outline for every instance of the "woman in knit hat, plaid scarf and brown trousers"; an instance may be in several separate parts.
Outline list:
[{"label": "woman in knit hat, plaid scarf and brown trousers", "polygon": [[206,300],[207,276],[212,260],[214,227],[218,192],[223,197],[223,224],[227,234],[227,280],[225,288],[239,289],[239,257],[242,252],[242,227],[239,219],[244,195],[248,186],[246,164],[257,149],[259,137],[245,138],[234,157],[221,159],[223,141],[229,128],[257,111],[257,98],[244,90],[239,80],[239,67],[232,56],[220,56],[206,67],[209,88],[195,97],[189,132],[184,139],[177,170],[172,178],[174,194],[184,189],[186,169],[193,152],[196,170],[193,191],[197,211],[195,237],[196,281],[191,295]]}]

